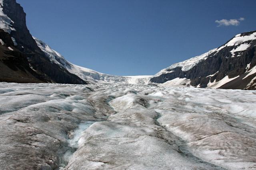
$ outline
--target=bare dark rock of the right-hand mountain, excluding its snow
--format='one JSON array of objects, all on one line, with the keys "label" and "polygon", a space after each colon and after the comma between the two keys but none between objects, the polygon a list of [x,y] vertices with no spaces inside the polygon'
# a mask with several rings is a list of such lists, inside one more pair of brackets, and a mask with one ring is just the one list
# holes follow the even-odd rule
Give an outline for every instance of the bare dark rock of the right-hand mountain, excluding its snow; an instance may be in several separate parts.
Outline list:
[{"label": "bare dark rock of the right-hand mountain, excluding its snow", "polygon": [[[250,36],[255,32],[256,31],[242,33],[240,36]],[[182,71],[181,67],[176,67],[169,70],[167,69],[166,71],[173,72],[162,73],[158,76],[152,77],[150,81],[154,83],[165,83],[166,81],[175,79],[177,77],[187,78],[191,80],[190,85],[199,85],[200,87],[204,88],[208,86],[209,82],[212,83],[214,80],[218,82],[228,75],[228,78],[237,78],[225,83],[219,88],[256,89],[256,85],[254,85],[256,80],[252,81],[252,79],[256,77],[256,74],[252,74],[243,79],[248,74],[246,71],[252,69],[252,67],[256,65],[256,40],[248,40],[244,41],[243,43],[250,44],[250,46],[244,51],[235,51],[234,56],[232,56],[230,51],[232,51],[232,49],[236,49],[236,47],[239,47],[240,44],[225,46],[220,50],[210,53],[205,60],[200,61],[187,71]],[[248,67],[249,64],[250,66]],[[251,85],[248,85],[250,82]]]}]

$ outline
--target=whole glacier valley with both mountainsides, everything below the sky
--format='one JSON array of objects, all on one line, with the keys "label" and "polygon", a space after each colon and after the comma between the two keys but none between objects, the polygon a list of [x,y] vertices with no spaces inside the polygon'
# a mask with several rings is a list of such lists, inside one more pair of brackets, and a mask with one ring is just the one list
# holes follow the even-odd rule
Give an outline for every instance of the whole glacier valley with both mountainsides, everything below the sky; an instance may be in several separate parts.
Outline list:
[{"label": "whole glacier valley with both mountainsides, everything below the sky", "polygon": [[0,170],[256,170],[256,31],[191,57],[100,73],[0,0]]}]

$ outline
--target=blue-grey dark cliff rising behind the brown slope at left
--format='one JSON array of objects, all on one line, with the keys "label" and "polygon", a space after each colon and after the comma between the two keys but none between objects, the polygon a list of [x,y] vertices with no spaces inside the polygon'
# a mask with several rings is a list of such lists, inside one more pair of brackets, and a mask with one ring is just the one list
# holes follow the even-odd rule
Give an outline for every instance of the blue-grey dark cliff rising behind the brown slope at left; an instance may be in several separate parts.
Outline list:
[{"label": "blue-grey dark cliff rising behind the brown slope at left", "polygon": [[[12,31],[10,36],[15,38],[18,49],[28,58],[27,64],[30,65],[36,73],[40,81],[51,83],[68,83],[68,84],[86,84],[85,81],[78,76],[69,73],[66,69],[52,63],[37,46],[26,26],[26,13],[16,0],[4,0],[3,12],[14,23],[12,26],[16,31]],[[5,39],[3,40],[6,41]],[[17,82],[17,81],[14,81]]]}]

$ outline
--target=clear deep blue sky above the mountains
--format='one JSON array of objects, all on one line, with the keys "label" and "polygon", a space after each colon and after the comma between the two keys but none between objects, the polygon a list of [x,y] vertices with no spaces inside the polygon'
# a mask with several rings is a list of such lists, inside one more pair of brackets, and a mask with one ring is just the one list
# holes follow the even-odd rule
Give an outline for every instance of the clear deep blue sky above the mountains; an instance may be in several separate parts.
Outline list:
[{"label": "clear deep blue sky above the mountains", "polygon": [[76,65],[113,75],[154,75],[256,30],[255,0],[17,2],[33,36]]}]

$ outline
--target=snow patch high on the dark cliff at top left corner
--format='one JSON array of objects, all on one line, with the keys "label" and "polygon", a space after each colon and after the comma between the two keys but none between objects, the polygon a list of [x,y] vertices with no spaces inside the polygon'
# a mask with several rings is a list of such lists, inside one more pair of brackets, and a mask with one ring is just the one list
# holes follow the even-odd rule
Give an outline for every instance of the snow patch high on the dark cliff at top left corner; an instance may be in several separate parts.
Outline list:
[{"label": "snow patch high on the dark cliff at top left corner", "polygon": [[0,28],[9,34],[12,31],[16,31],[12,24],[14,23],[6,14],[3,12],[4,0],[0,0]]}]

